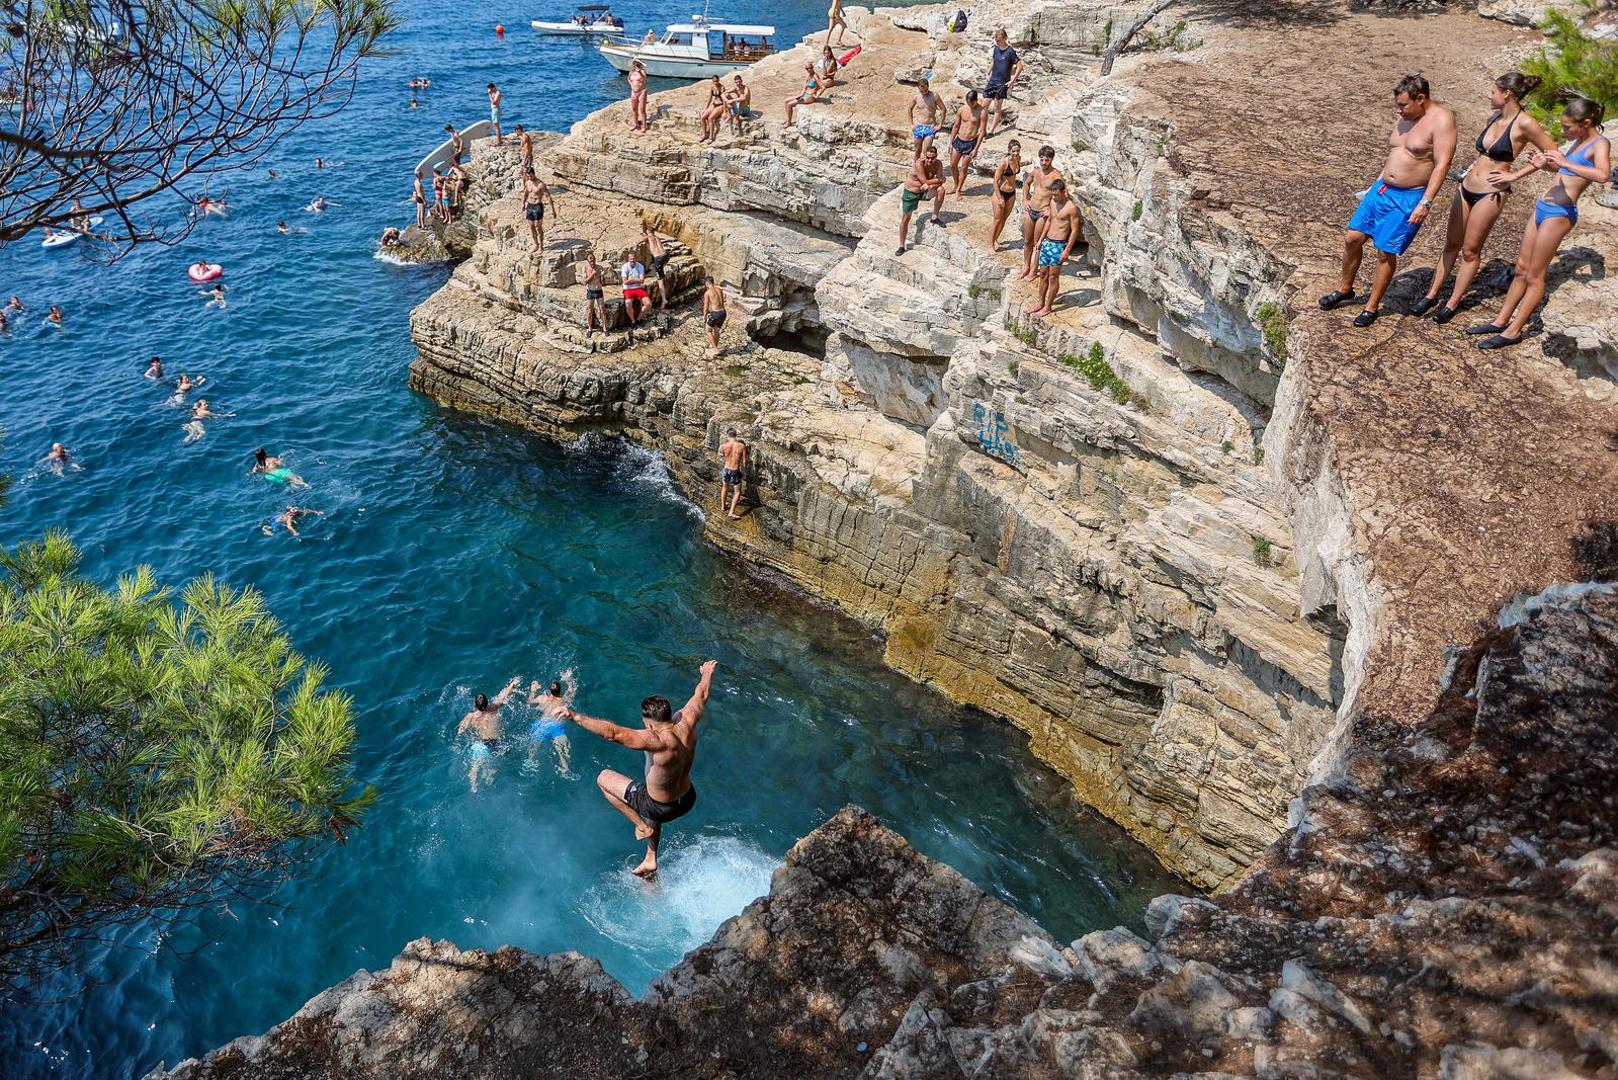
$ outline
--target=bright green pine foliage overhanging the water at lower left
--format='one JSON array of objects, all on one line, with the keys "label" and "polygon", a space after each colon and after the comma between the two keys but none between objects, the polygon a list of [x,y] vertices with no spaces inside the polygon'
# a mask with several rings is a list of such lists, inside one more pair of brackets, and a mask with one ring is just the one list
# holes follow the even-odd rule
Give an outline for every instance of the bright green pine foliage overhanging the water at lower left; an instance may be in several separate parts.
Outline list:
[{"label": "bright green pine foliage overhanging the water at lower left", "polygon": [[142,918],[267,899],[374,792],[351,699],[252,589],[0,551],[0,997]]}]

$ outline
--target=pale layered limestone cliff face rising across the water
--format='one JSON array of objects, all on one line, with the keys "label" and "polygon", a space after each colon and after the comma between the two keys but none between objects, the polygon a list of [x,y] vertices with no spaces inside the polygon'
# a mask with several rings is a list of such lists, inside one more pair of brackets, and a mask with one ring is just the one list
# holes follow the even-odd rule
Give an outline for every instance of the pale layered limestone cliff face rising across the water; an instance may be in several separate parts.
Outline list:
[{"label": "pale layered limestone cliff face rising across the water", "polygon": [[[1040,134],[1071,117],[1066,50],[1099,49],[1134,11],[1016,16],[1052,94],[1040,115],[1008,108],[1029,152],[1071,142]],[[882,630],[893,667],[1011,719],[1171,868],[1228,882],[1278,832],[1333,727],[1341,627],[1301,610],[1281,499],[1257,466],[1259,397],[1092,301],[1094,317],[1021,317],[1019,253],[989,251],[981,180],[966,214],[951,206],[945,228],[921,223],[916,248],[892,254],[916,92],[895,73],[968,73],[987,55],[987,39],[916,29],[935,15],[864,16],[859,60],[793,126],[754,118],[696,146],[696,91],[657,96],[650,136],[618,107],[576,125],[542,155],[568,246],[527,257],[516,202],[493,201],[472,257],[413,316],[413,384],[557,437],[623,432],[663,450],[701,502],[736,427],[754,445],[754,505],[712,515],[715,544]],[[796,70],[794,55],[757,65],[754,100]],[[612,343],[579,334],[578,261],[594,249],[615,267],[641,223],[726,282],[731,325],[752,340],[707,358],[678,306]],[[1087,270],[1073,288],[1121,287]],[[815,355],[772,348],[804,337]],[[1126,393],[1086,374],[1094,348]],[[1262,358],[1226,368],[1236,387],[1275,387]]]}]

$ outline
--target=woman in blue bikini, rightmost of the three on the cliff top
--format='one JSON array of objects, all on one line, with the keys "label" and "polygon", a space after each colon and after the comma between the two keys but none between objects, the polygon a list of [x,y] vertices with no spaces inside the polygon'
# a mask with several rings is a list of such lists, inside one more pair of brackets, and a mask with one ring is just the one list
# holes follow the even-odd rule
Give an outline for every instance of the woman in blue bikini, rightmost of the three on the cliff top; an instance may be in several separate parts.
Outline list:
[{"label": "woman in blue bikini, rightmost of the three on the cliff top", "polygon": [[1579,223],[1579,196],[1592,183],[1608,183],[1613,175],[1612,144],[1600,134],[1602,107],[1587,97],[1574,99],[1561,112],[1561,138],[1566,151],[1529,154],[1535,168],[1557,173],[1552,185],[1534,202],[1534,220],[1523,232],[1516,277],[1493,322],[1469,327],[1468,334],[1487,335],[1480,348],[1506,348],[1523,340],[1527,321],[1545,298],[1545,270],[1557,257],[1557,248]]}]

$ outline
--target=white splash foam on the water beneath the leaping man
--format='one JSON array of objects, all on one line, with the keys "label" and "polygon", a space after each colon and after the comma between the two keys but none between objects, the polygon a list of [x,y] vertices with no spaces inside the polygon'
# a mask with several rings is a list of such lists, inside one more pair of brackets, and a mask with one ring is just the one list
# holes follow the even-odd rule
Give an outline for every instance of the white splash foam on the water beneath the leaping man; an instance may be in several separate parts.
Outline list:
[{"label": "white splash foam on the water beneath the leaping man", "polygon": [[780,865],[733,836],[676,836],[663,844],[655,881],[634,878],[628,866],[608,871],[584,891],[578,908],[605,938],[665,968],[769,892]]}]

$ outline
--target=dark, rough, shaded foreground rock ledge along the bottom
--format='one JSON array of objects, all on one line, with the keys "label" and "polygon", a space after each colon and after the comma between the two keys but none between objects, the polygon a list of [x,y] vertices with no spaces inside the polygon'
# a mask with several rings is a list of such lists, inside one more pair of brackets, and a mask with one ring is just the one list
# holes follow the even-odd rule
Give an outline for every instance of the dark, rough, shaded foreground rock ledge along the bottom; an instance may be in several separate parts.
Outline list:
[{"label": "dark, rough, shaded foreground rock ledge along the bottom", "polygon": [[642,1002],[578,954],[421,939],[152,1077],[1618,1074],[1618,588],[1513,604],[1400,721],[1235,891],[1157,899],[1154,941],[1061,947],[848,808]]}]

